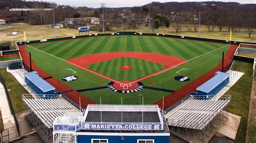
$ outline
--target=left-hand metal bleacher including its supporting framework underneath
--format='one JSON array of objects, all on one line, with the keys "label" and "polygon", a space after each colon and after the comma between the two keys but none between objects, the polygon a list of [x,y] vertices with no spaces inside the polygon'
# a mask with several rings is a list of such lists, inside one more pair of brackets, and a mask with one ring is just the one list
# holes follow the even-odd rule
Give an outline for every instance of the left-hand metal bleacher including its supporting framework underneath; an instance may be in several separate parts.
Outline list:
[{"label": "left-hand metal bleacher including its supporting framework underneath", "polygon": [[22,95],[26,104],[26,117],[36,128],[44,142],[52,142],[53,121],[57,117],[69,116],[76,119],[82,112],[59,95]]}]

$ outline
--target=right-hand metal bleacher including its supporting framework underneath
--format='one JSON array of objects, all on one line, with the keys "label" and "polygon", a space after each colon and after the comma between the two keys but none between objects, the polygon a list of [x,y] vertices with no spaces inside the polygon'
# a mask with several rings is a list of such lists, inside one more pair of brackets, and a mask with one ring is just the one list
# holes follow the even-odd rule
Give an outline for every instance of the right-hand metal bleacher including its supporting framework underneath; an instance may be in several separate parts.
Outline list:
[{"label": "right-hand metal bleacher including its supporting framework underneath", "polygon": [[[194,137],[194,141],[204,140],[210,137],[209,131],[217,129],[218,121],[224,121],[227,117],[225,108],[230,103],[231,96],[190,96],[171,111],[165,114],[167,124],[174,134],[184,137]],[[196,135],[198,135],[196,137]],[[196,141],[197,142],[197,141]]]}]

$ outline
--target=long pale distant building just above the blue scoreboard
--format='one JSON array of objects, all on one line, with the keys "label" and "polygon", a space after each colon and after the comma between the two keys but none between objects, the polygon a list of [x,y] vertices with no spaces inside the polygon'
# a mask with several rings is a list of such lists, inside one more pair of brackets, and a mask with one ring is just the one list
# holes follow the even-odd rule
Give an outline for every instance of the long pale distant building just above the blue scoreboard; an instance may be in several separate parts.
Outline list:
[{"label": "long pale distant building just above the blue scoreboard", "polygon": [[86,17],[86,18],[65,18],[66,25],[99,25],[99,18]]}]

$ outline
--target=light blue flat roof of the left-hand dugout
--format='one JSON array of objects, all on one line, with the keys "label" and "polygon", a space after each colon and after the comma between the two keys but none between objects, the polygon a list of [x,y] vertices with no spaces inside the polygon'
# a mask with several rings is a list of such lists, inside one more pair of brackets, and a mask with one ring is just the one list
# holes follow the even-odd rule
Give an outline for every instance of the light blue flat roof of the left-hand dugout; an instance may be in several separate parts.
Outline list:
[{"label": "light blue flat roof of the left-hand dugout", "polygon": [[46,82],[43,78],[39,77],[37,71],[31,71],[24,75],[43,92],[55,89],[55,87],[53,87],[50,83]]}]

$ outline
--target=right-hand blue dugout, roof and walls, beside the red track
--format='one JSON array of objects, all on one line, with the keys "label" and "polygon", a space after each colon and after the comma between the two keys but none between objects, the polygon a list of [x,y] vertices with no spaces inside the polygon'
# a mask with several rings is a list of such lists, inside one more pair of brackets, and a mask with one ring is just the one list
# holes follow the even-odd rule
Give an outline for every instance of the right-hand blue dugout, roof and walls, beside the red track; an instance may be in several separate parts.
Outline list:
[{"label": "right-hand blue dugout, roof and walls, beside the red track", "polygon": [[[217,71],[215,76],[197,88],[196,95],[216,95],[230,82],[230,74]],[[211,98],[209,96],[209,98]]]}]

